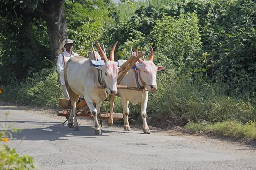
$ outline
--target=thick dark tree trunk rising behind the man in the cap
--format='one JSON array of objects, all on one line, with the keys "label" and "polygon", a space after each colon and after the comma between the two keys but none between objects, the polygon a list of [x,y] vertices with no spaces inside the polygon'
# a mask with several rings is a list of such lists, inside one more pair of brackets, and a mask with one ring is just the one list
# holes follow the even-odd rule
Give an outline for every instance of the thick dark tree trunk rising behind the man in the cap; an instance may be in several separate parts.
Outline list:
[{"label": "thick dark tree trunk rising behind the man in the cap", "polygon": [[38,4],[45,19],[50,38],[51,61],[55,61],[62,51],[64,40],[67,38],[63,4],[64,0],[47,0],[45,3],[39,2]]}]

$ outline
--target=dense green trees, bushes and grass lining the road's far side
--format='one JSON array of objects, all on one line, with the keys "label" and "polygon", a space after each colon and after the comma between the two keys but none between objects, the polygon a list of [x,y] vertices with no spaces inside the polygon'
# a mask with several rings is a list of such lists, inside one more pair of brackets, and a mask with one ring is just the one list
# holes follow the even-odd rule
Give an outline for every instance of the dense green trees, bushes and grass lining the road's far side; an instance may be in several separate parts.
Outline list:
[{"label": "dense green trees, bushes and grass lining the road's far side", "polygon": [[[0,3],[6,10],[13,7]],[[129,47],[138,45],[147,58],[153,46],[154,62],[166,69],[158,74],[158,91],[150,93],[150,125],[243,126],[256,119],[254,0],[145,0],[134,7],[66,0],[63,8],[68,37],[80,55],[87,56],[96,40],[107,51],[118,40],[116,60],[128,58]],[[1,11],[0,99],[56,107],[61,88],[55,62],[49,60],[47,29],[37,9],[29,12],[36,17],[28,36],[21,32],[25,10]],[[119,99],[115,109],[122,112]],[[131,106],[131,119],[139,120],[139,110]]]}]

